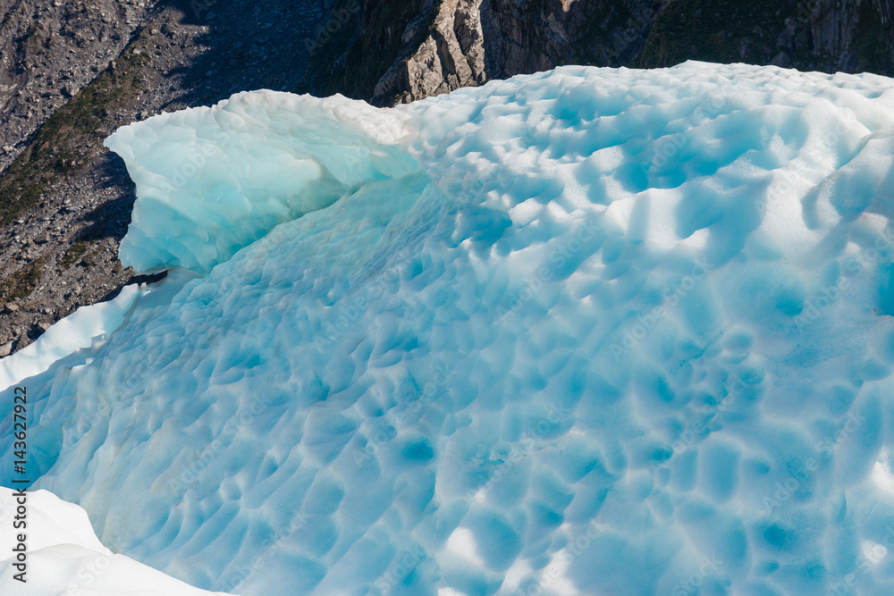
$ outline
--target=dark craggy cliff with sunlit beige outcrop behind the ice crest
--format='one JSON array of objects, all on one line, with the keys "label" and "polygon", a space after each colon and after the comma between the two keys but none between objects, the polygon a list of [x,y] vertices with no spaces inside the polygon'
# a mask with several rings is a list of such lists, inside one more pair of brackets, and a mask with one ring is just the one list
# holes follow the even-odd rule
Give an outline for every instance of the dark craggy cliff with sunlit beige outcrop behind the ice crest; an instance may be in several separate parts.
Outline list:
[{"label": "dark craggy cliff with sunlit beige outcrop behind the ice crest", "polygon": [[[357,17],[311,56],[301,90],[393,105],[561,64],[689,59],[894,75],[889,0],[427,0],[402,12],[348,3]],[[360,66],[374,47],[378,68]],[[348,74],[358,68],[362,80]]]}]

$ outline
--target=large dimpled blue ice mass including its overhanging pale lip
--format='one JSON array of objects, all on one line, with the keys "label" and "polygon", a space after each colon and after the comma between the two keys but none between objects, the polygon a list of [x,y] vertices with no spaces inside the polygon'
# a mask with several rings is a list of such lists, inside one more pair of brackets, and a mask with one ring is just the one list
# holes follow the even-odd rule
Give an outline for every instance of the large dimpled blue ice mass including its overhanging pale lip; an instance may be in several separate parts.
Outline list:
[{"label": "large dimpled blue ice mass including its overhanging pale lip", "polygon": [[108,549],[244,596],[894,590],[894,81],[253,91],[106,143],[173,279],[11,378]]}]

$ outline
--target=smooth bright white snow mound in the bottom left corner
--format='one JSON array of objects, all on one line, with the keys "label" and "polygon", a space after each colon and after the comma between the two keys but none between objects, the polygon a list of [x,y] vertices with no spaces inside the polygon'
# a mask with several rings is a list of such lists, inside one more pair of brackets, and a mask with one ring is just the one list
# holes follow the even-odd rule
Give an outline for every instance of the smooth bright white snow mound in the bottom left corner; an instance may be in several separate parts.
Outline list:
[{"label": "smooth bright white snow mound in the bottom left corner", "polygon": [[[13,517],[19,503],[10,489],[0,488],[0,593],[7,596],[201,596],[198,590],[156,569],[113,554],[93,533],[87,513],[66,503],[49,491],[30,492],[28,508],[28,549],[26,583],[13,579],[10,553],[18,545],[13,540]],[[219,592],[218,592],[219,593]]]}]

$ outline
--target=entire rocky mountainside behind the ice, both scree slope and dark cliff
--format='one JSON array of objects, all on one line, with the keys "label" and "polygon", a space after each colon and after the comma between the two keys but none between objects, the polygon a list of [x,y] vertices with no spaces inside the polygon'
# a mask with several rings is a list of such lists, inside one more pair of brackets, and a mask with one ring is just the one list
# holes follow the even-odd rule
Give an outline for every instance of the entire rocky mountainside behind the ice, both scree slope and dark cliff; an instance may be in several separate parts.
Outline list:
[{"label": "entire rocky mountainside behind the ice, both scree slope and dark cliff", "polygon": [[890,0],[0,0],[0,357],[146,281],[114,129],[246,89],[393,105],[560,64],[894,75]]}]

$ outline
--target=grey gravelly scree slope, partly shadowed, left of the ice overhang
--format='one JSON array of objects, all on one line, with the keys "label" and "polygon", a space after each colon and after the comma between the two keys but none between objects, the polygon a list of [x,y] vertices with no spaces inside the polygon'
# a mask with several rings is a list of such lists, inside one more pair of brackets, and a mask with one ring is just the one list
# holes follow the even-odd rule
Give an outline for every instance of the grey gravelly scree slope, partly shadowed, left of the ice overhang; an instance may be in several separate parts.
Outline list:
[{"label": "grey gravelly scree slope, partly shadowed, left of the ice overhang", "polygon": [[165,110],[291,90],[331,4],[0,2],[0,357],[147,281],[118,262],[133,185],[102,140]]}]

